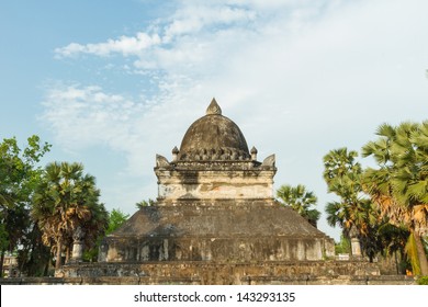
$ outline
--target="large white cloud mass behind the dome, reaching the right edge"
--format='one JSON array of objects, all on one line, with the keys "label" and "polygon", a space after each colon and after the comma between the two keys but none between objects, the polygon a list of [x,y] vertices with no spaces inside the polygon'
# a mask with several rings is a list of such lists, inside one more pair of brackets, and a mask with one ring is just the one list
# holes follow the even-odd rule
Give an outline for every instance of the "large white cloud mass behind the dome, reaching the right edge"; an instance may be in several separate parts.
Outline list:
[{"label": "large white cloud mass behind the dome, reaching the right edge", "polygon": [[151,179],[142,189],[153,186],[155,155],[170,158],[216,96],[261,159],[277,154],[277,185],[306,184],[322,207],[331,198],[320,175],[328,150],[359,150],[382,122],[425,118],[427,2],[182,3],[154,22],[158,31],[57,49],[64,57],[135,57],[127,70],[159,89],[143,99],[136,89],[129,99],[98,87],[53,87],[44,118],[64,146],[106,144],[126,155],[134,174]]}]

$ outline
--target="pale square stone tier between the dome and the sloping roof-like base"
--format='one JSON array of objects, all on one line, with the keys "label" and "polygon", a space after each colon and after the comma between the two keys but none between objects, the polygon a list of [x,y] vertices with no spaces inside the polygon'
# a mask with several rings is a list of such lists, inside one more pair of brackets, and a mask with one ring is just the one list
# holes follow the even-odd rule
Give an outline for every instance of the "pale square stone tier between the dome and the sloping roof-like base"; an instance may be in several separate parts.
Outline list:
[{"label": "pale square stone tier between the dome and the sloping roof-like base", "polygon": [[275,171],[255,161],[165,162],[155,168],[158,198],[166,201],[271,198]]}]

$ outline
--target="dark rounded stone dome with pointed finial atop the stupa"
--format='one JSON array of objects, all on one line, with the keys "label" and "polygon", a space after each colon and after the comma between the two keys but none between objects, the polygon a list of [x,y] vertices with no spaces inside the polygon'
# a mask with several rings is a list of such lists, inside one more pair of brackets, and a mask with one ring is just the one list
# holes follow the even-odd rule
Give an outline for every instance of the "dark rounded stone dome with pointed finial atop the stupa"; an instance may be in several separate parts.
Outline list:
[{"label": "dark rounded stone dome with pointed finial atop the stupa", "polygon": [[222,115],[213,99],[206,115],[187,130],[180,146],[180,160],[247,160],[247,141],[239,127]]}]

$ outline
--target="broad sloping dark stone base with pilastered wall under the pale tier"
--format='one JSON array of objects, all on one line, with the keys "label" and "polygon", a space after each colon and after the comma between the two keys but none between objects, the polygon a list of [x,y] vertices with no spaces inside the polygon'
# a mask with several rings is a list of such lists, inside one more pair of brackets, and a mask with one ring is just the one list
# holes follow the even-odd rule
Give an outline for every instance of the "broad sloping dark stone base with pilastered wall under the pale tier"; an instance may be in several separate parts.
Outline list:
[{"label": "broad sloping dark stone base with pilastered wall under the pale tier", "polygon": [[271,201],[145,207],[106,237],[100,261],[294,261],[334,254],[334,241]]}]

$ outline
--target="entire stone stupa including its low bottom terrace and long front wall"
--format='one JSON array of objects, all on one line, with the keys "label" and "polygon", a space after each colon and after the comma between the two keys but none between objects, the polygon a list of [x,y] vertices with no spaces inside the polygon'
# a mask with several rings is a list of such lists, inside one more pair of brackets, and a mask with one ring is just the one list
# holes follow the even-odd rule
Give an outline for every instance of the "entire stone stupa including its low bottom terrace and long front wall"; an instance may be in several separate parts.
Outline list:
[{"label": "entire stone stupa including its low bottom terrace and long front wall", "polygon": [[80,252],[56,278],[10,284],[415,283],[363,259],[336,260],[331,238],[274,200],[275,172],[275,156],[258,161],[213,100],[171,160],[156,156],[156,204],[106,236],[98,262]]}]

